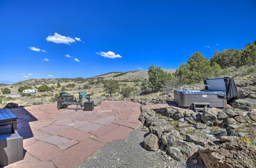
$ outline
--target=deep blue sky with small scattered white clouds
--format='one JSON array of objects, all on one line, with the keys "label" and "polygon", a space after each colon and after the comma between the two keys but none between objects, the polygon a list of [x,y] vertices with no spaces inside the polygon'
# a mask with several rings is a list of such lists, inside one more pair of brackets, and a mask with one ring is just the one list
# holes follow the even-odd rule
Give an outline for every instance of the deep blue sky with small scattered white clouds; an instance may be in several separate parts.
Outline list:
[{"label": "deep blue sky with small scattered white clouds", "polygon": [[234,0],[1,0],[0,80],[176,69],[194,52],[210,58],[253,42],[255,9]]}]

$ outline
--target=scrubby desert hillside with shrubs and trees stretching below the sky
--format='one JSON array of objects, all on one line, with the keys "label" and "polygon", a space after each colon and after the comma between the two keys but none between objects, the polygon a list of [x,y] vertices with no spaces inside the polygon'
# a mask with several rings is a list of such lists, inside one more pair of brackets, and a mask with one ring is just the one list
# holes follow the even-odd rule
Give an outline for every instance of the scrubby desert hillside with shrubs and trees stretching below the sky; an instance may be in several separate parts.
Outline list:
[{"label": "scrubby desert hillside with shrubs and trees stretching below the sky", "polygon": [[[92,97],[154,97],[175,89],[202,89],[204,78],[230,76],[237,82],[248,81],[256,78],[255,51],[254,41],[243,49],[217,50],[210,59],[196,52],[177,70],[152,65],[145,71],[110,72],[90,78],[28,79],[1,85],[0,106],[8,102],[31,105],[42,99],[44,103],[56,102],[61,92],[76,97],[79,91],[87,91]],[[26,89],[37,89],[37,93],[23,94]]]}]

